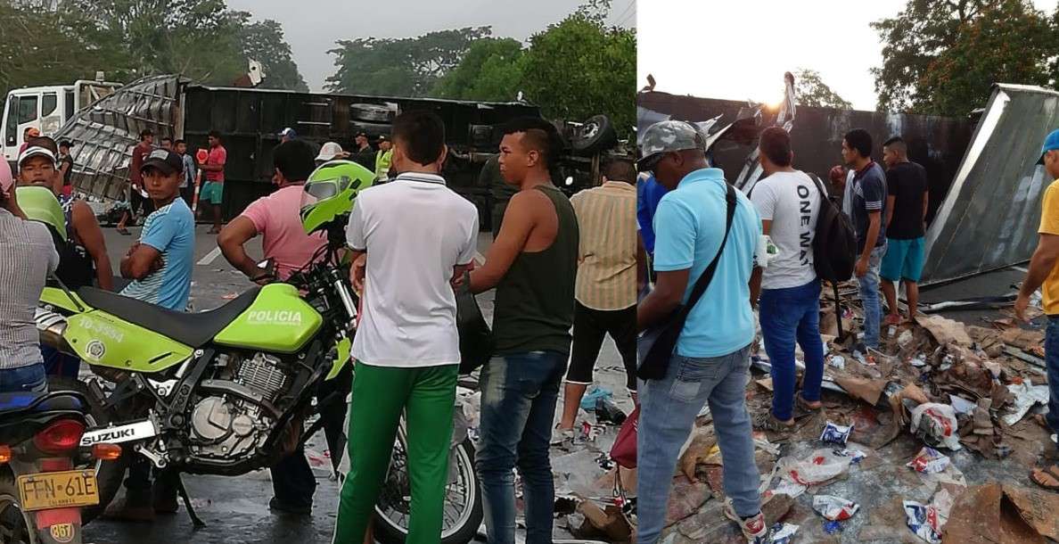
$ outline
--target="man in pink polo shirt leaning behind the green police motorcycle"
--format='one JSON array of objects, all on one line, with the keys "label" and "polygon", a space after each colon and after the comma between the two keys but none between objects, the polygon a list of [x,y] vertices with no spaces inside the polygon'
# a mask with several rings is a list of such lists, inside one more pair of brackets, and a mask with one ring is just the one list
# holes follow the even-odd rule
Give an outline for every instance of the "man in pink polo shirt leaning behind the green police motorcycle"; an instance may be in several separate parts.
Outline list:
[{"label": "man in pink polo shirt leaning behind the green police motorcycle", "polygon": [[[257,283],[287,279],[291,273],[309,264],[317,250],[327,243],[321,232],[311,235],[305,233],[299,213],[302,186],[316,168],[315,159],[312,146],[303,140],[290,140],[276,145],[272,151],[275,166],[272,181],[280,189],[247,207],[217,236],[217,245],[225,259]],[[244,249],[244,245],[258,234],[263,236],[265,258],[275,262],[276,278],[268,277]],[[339,374],[338,379],[321,386],[318,398],[326,398],[336,387],[333,384],[347,388],[349,382],[348,375]],[[341,398],[344,399],[345,396],[342,394]],[[334,451],[345,421],[345,404],[337,403],[322,409],[321,417],[326,421],[324,432],[328,446]],[[303,450],[299,449],[272,468],[272,489],[275,496],[269,502],[269,508],[284,513],[308,514],[312,509],[316,487],[312,469],[309,468]]]}]

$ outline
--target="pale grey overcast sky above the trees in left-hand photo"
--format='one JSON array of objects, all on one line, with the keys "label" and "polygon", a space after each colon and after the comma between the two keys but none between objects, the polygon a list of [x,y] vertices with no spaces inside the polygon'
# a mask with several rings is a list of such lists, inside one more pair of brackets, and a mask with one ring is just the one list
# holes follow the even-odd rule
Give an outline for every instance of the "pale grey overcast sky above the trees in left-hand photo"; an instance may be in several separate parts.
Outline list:
[{"label": "pale grey overcast sky above the trees in left-hand photo", "polygon": [[[323,90],[335,73],[335,56],[327,50],[339,39],[358,37],[415,37],[428,32],[464,27],[492,27],[492,34],[525,40],[574,12],[580,0],[358,1],[348,0],[228,0],[232,10],[247,11],[257,20],[283,23],[294,62],[309,88]],[[613,0],[611,22],[635,21],[632,0]],[[630,96],[631,100],[631,96]]]}]

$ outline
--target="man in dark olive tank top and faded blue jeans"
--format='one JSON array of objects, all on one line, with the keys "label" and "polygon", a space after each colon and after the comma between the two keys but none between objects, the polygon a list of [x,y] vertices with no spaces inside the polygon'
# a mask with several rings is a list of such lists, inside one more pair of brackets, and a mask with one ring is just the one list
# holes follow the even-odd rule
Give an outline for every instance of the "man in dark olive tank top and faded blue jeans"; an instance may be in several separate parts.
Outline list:
[{"label": "man in dark olive tank top and faded blue jeans", "polygon": [[577,217],[552,183],[561,143],[539,118],[517,119],[500,142],[500,173],[517,187],[470,288],[496,287],[493,357],[482,369],[478,473],[490,544],[515,542],[515,476],[522,477],[526,542],[552,542],[555,487],[549,459],[559,383],[570,357]]}]

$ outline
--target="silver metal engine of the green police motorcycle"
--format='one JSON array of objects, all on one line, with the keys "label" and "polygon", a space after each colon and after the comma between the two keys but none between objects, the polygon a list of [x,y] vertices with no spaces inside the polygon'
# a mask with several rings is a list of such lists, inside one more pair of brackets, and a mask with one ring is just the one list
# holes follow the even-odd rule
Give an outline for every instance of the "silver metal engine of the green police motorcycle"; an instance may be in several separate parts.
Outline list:
[{"label": "silver metal engine of the green police motorcycle", "polygon": [[271,403],[289,379],[282,362],[265,353],[232,356],[221,364],[221,371],[210,381],[209,396],[200,397],[192,408],[191,450],[204,457],[239,457],[263,446],[275,421],[258,403],[218,390],[248,390]]}]

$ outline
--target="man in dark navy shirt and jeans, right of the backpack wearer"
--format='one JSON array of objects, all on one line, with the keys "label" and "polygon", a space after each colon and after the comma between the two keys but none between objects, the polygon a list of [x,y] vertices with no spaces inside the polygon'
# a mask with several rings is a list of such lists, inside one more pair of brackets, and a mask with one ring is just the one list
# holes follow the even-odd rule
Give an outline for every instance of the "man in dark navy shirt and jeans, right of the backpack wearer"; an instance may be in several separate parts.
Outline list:
[{"label": "man in dark navy shirt and jeans, right of the backpack wearer", "polygon": [[866,348],[879,348],[879,321],[882,308],[879,305],[879,266],[886,253],[886,226],[882,217],[886,213],[886,174],[872,160],[872,135],[863,128],[854,128],[842,139],[842,160],[854,171],[852,180],[846,183],[842,211],[854,223],[857,231],[857,249],[860,256],[854,274],[860,287],[861,303],[864,305],[864,341],[859,345],[861,352]]}]

